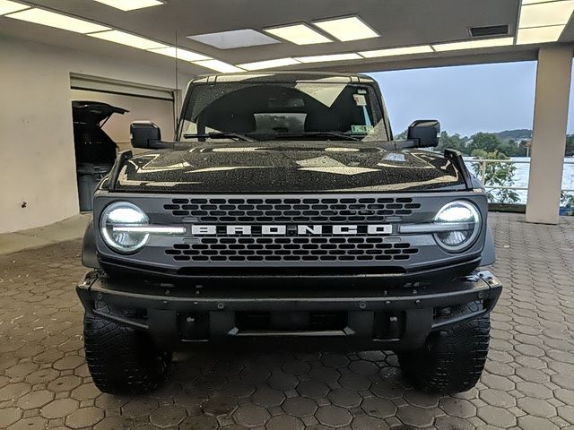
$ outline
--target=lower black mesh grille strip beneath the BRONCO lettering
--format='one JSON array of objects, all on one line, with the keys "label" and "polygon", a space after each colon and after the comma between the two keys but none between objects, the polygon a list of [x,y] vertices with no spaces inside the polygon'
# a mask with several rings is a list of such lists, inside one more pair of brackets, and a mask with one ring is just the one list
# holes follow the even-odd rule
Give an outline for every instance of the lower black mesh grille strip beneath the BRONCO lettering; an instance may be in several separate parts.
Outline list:
[{"label": "lower black mesh grille strip beneath the BRONCO lettering", "polygon": [[177,262],[388,262],[419,250],[385,237],[202,237],[165,253]]}]

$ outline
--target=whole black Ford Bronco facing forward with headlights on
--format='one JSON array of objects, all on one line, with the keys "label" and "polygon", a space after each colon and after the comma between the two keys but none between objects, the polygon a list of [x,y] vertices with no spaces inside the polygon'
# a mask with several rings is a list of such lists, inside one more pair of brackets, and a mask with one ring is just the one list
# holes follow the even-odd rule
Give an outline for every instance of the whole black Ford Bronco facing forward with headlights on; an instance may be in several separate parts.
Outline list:
[{"label": "whole black Ford Bronco facing forward with headlights on", "polygon": [[393,138],[366,75],[190,82],[175,142],[131,125],[93,197],[85,354],[150,391],[180,348],[392,349],[424,391],[478,381],[500,282],[482,185],[437,121]]}]

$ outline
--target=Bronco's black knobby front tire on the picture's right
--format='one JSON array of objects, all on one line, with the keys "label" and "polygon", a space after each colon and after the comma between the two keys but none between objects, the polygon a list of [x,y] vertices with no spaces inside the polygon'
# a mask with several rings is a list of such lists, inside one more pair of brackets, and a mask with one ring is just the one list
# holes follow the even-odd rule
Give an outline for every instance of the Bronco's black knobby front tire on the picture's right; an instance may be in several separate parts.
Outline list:
[{"label": "Bronco's black knobby front tire on the picture's right", "polygon": [[[453,316],[482,308],[480,302],[462,305]],[[406,378],[418,390],[437,394],[468,391],[483,373],[488,354],[490,315],[434,331],[421,349],[398,354]]]}]

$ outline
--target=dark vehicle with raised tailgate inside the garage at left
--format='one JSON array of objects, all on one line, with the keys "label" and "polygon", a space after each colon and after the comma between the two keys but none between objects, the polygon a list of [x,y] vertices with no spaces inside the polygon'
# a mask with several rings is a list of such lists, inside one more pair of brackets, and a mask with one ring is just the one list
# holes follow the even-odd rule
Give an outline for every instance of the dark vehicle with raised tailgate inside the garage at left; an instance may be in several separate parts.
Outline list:
[{"label": "dark vehicle with raised tailgate inside the garage at left", "polygon": [[117,156],[117,144],[102,130],[114,114],[124,115],[122,107],[99,101],[72,102],[74,151],[78,177],[80,211],[91,211],[96,185],[108,175]]}]

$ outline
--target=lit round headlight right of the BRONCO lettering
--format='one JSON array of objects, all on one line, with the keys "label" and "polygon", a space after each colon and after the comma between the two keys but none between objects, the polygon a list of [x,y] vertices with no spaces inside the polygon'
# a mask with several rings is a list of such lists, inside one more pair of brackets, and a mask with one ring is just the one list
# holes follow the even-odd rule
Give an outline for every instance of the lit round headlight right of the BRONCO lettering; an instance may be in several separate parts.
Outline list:
[{"label": "lit round headlight right of the BRONCO lettering", "polygon": [[433,222],[441,231],[435,233],[440,246],[460,252],[470,245],[481,231],[481,215],[470,202],[450,202],[442,207]]}]

